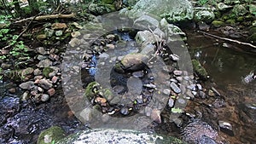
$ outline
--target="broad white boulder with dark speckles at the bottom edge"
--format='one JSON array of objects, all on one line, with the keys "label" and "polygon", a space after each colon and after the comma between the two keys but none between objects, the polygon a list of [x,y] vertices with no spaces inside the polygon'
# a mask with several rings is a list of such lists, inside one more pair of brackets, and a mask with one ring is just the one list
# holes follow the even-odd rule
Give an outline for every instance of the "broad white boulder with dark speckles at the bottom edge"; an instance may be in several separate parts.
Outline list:
[{"label": "broad white boulder with dark speckles at the bottom edge", "polygon": [[148,134],[136,130],[84,130],[74,135],[69,135],[56,144],[75,144],[75,143],[160,143],[160,144],[181,144],[183,141],[163,135]]}]

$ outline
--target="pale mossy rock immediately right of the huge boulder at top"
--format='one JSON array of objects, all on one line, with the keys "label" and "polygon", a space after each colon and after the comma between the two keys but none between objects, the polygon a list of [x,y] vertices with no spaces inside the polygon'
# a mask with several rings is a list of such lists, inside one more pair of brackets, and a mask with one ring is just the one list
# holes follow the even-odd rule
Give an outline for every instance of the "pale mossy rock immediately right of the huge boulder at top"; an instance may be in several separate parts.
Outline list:
[{"label": "pale mossy rock immediately right of the huge boulder at top", "polygon": [[205,21],[207,23],[212,22],[214,20],[215,14],[212,9],[207,8],[195,8],[194,20],[195,22]]}]

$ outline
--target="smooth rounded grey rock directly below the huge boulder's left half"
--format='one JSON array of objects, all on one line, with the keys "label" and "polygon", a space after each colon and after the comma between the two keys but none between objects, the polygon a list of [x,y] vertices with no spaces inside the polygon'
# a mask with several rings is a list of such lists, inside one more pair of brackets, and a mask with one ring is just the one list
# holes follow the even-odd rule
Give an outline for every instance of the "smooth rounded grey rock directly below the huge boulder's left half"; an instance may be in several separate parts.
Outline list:
[{"label": "smooth rounded grey rock directly below the huge boulder's left half", "polygon": [[134,20],[134,26],[137,26],[138,28],[148,28],[149,26],[151,29],[155,29],[156,27],[159,27],[159,21],[151,16],[142,15],[137,20]]}]

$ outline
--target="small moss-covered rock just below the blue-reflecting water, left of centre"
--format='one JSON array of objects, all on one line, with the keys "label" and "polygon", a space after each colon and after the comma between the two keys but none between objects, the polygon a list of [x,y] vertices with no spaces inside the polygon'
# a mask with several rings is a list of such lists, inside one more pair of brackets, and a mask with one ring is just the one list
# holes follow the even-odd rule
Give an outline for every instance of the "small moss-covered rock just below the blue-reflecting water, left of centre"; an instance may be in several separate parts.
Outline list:
[{"label": "small moss-covered rock just below the blue-reflecting water, left of centre", "polygon": [[88,100],[92,100],[94,98],[94,96],[98,93],[98,87],[99,86],[100,86],[100,84],[98,84],[97,82],[91,82],[86,87],[85,92],[84,92],[84,96]]}]

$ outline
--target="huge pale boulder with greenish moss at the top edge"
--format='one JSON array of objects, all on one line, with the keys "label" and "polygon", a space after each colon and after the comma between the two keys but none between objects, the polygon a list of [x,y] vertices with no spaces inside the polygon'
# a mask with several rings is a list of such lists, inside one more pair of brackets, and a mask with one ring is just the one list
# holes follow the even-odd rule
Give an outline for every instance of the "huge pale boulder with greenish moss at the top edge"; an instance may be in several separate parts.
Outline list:
[{"label": "huge pale boulder with greenish moss at the top edge", "polygon": [[140,0],[133,9],[123,9],[120,13],[133,19],[143,14],[153,14],[160,18],[166,18],[169,22],[179,22],[192,20],[193,7],[188,0]]}]

